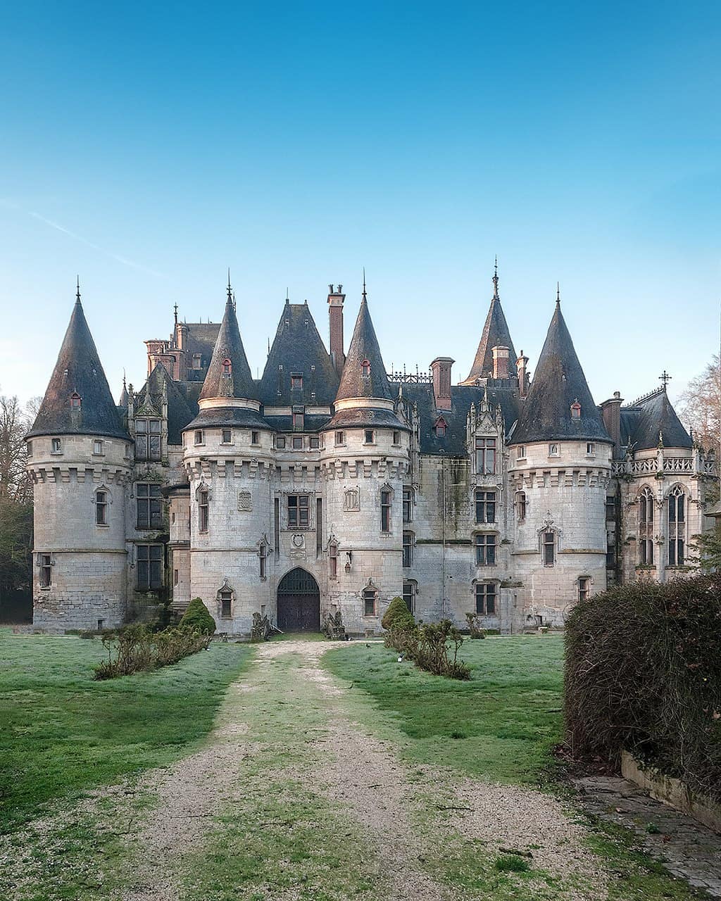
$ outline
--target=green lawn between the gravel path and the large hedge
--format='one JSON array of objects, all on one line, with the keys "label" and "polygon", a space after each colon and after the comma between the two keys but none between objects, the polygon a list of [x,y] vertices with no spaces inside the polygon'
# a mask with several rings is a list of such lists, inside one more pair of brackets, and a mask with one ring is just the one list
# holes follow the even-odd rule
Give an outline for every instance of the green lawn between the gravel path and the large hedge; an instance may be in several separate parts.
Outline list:
[{"label": "green lawn between the gravel path and the large hedge", "polygon": [[365,642],[329,651],[324,665],[389,714],[412,759],[502,782],[542,781],[561,740],[561,636],[469,639],[461,657],[469,682],[431,676]]}]

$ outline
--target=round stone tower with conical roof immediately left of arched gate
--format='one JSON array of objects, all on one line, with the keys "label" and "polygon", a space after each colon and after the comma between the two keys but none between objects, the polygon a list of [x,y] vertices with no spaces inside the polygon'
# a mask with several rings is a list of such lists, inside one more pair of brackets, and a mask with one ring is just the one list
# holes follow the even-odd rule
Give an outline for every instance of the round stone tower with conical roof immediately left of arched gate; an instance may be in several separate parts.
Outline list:
[{"label": "round stone tower with conical roof immediately left of arched gate", "polygon": [[260,416],[230,284],[199,407],[183,431],[190,596],[203,599],[218,632],[249,633],[252,614],[273,612],[273,432]]}]

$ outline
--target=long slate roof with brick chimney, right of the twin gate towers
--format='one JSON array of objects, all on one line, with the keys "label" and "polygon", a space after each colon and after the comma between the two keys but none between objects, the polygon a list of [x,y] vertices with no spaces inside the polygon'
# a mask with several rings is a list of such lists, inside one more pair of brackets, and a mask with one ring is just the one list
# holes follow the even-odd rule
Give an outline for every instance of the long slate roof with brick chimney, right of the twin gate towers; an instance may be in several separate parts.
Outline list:
[{"label": "long slate roof with brick chimney, right of the twin gate towers", "polygon": [[[449,454],[451,456],[463,456],[468,453],[466,449],[466,420],[470,405],[478,408],[485,394],[485,388],[477,385],[452,385],[451,409],[436,410],[434,400],[434,387],[430,383],[397,385],[392,382],[391,387],[397,393],[400,387],[402,395],[408,404],[416,404],[421,423],[421,453]],[[489,387],[488,403],[500,404],[503,414],[506,434],[510,432],[513,423],[518,418],[518,391],[514,387]],[[435,423],[443,416],[446,423],[446,433],[443,438],[435,434]]]}]

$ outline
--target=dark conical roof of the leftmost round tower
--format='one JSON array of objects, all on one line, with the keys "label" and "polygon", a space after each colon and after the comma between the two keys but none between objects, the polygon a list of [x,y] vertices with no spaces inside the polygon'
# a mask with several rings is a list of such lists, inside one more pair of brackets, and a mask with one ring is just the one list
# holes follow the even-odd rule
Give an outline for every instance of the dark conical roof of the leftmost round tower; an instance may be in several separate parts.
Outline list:
[{"label": "dark conical roof of the leftmost round tower", "polygon": [[[78,406],[71,405],[71,397]],[[128,438],[87,327],[80,289],[50,384],[28,432],[34,435],[103,435]]]}]

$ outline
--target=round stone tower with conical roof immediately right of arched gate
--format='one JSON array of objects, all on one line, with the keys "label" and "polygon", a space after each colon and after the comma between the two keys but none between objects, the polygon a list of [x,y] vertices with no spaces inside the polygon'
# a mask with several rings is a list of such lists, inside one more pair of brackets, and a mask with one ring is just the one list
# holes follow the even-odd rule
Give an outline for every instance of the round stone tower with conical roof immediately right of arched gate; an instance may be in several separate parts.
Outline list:
[{"label": "round stone tower with conical roof immediately right of arched gate", "polygon": [[408,429],[398,418],[365,285],[324,431],[328,607],[351,633],[378,631],[403,592],[403,477]]}]

